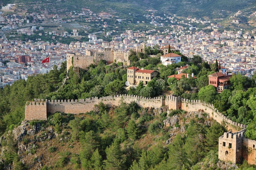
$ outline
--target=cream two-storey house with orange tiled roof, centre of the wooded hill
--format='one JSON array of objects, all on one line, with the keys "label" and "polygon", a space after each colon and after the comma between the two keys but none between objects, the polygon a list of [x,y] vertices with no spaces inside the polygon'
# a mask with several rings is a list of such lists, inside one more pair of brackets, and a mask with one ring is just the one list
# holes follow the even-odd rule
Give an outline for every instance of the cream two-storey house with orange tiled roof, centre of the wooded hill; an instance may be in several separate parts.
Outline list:
[{"label": "cream two-storey house with orange tiled roof, centre of the wooded hill", "polygon": [[158,72],[154,70],[139,69],[132,66],[127,68],[127,81],[130,82],[131,85],[139,85],[139,82],[143,82],[144,85],[147,85],[157,74]]}]

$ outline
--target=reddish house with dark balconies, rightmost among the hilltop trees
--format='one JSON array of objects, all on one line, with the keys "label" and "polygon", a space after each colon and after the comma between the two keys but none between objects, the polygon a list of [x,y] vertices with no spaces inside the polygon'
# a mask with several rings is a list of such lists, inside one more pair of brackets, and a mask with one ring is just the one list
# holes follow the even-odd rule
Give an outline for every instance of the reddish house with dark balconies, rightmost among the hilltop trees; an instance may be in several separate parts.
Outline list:
[{"label": "reddish house with dark balconies, rightmost among the hilltop trees", "polygon": [[228,75],[228,73],[223,74],[216,72],[208,75],[208,77],[209,85],[213,85],[216,88],[217,93],[221,93],[224,89],[228,89],[229,86],[231,86],[229,79],[232,77],[232,75]]}]

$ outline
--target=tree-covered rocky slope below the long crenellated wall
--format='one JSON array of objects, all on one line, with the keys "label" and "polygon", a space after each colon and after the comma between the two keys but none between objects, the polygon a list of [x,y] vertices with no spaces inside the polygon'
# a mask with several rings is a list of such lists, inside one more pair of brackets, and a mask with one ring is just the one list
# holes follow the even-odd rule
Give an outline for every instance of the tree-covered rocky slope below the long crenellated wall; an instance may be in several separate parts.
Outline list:
[{"label": "tree-covered rocky slope below the long crenellated wall", "polygon": [[[166,116],[168,126],[163,124]],[[99,104],[90,113],[55,113],[48,121],[23,122],[2,142],[2,167],[10,163],[16,169],[185,170],[198,168],[195,164],[209,154],[211,161],[203,167],[214,163],[211,168],[217,169],[225,165],[216,155],[223,132],[203,112],[166,112],[139,108],[135,102],[115,108]],[[16,148],[8,147],[10,143]]]}]

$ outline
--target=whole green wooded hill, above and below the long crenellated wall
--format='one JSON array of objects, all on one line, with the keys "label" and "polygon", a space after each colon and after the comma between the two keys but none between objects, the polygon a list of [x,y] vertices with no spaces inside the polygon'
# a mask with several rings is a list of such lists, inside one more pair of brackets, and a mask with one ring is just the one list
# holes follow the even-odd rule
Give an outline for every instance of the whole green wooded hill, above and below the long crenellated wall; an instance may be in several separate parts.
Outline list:
[{"label": "whole green wooded hill, above and below the long crenellated wall", "polygon": [[[182,56],[182,62],[164,66],[159,64],[160,55],[148,57],[159,53],[158,50],[156,46],[146,49],[145,53],[130,54],[131,66],[153,69],[159,74],[147,86],[139,84],[128,91],[124,85],[127,66],[121,62],[106,65],[103,60],[97,66],[91,64],[86,70],[70,68],[64,85],[65,63],[59,70],[55,66],[48,74],[33,75],[27,81],[19,80],[5,86],[0,91],[0,126],[4,135],[1,138],[3,154],[0,165],[35,169],[40,163],[41,167],[37,168],[44,170],[220,169],[223,163],[217,156],[218,137],[228,129],[203,112],[139,108],[135,102],[120,103],[114,108],[99,104],[90,113],[55,113],[47,121],[23,122],[21,126],[26,126],[27,132],[28,129],[34,131],[18,138],[20,141],[13,140],[13,134],[8,132],[20,125],[24,119],[25,103],[34,98],[84,99],[124,93],[155,97],[174,93],[214,104],[229,119],[247,124],[246,137],[255,139],[255,77],[233,75],[231,88],[218,94],[213,86],[208,85],[207,77],[218,71],[218,62],[209,64],[199,56],[194,56],[189,62]],[[180,54],[179,51],[173,52]],[[183,73],[194,73],[197,79],[167,79],[167,76],[177,74],[175,68],[187,63]],[[191,87],[197,87],[198,93],[190,93]],[[171,126],[163,124],[167,115],[175,120]],[[21,144],[25,151],[18,151]],[[243,167],[248,166],[244,163]]]}]

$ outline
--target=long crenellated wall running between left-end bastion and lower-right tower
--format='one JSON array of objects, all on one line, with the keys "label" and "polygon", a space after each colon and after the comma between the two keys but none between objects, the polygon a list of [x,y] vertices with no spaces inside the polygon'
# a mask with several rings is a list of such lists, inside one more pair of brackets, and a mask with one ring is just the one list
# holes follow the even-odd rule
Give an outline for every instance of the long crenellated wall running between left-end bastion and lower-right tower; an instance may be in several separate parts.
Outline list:
[{"label": "long crenellated wall running between left-end bastion and lower-right tower", "polygon": [[[246,128],[246,125],[239,124],[234,121],[231,121],[230,119],[227,119],[225,115],[222,115],[216,108],[214,108],[213,104],[208,104],[200,100],[184,99],[184,98],[173,96],[173,95],[168,95],[165,97],[165,99],[163,99],[163,97],[147,98],[147,97],[141,97],[137,95],[127,95],[127,94],[115,95],[115,96],[104,96],[104,97],[91,97],[86,99],[61,99],[61,100],[60,99],[59,100],[34,99],[34,102],[29,102],[27,103],[27,105],[40,105],[40,104],[46,103],[48,113],[55,113],[56,111],[66,113],[67,110],[70,110],[67,108],[72,105],[73,111],[70,110],[70,113],[74,113],[75,110],[76,112],[79,112],[79,113],[85,113],[93,110],[92,107],[94,107],[95,104],[99,104],[99,102],[103,102],[108,106],[118,106],[120,101],[123,101],[125,103],[130,103],[132,101],[135,101],[140,107],[159,108],[163,105],[167,105],[169,109],[182,109],[186,111],[204,110],[204,112],[209,113],[210,117],[212,117],[219,123],[221,123],[222,121],[225,121],[228,124],[231,124],[240,128]],[[81,108],[80,105],[88,106],[88,108],[77,110],[77,108]],[[37,118],[34,117],[34,119],[37,119]]]}]

